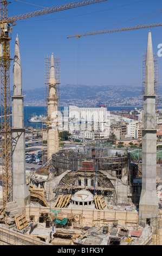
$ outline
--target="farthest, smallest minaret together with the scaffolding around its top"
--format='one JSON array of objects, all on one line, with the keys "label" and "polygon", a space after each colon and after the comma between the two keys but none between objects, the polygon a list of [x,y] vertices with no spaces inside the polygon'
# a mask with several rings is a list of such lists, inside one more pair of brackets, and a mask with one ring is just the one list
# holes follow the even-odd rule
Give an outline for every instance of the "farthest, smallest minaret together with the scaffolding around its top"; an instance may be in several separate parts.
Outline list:
[{"label": "farthest, smallest minaret together with the scaffolding around its top", "polygon": [[[46,65],[49,63],[47,58]],[[48,72],[48,67],[47,67]],[[59,60],[51,54],[47,95],[47,154],[48,159],[59,150],[59,131],[58,131],[58,100],[59,100],[59,84],[60,69]]]}]

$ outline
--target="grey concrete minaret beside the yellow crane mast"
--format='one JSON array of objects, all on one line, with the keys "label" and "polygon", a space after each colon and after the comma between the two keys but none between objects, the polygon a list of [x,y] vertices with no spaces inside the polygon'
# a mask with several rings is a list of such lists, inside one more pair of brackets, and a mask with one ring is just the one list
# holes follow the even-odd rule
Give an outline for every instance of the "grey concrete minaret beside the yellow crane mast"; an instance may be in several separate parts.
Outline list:
[{"label": "grey concrete minaret beside the yellow crane mast", "polygon": [[24,96],[18,36],[16,37],[12,96],[12,189],[13,201],[22,209],[30,200],[25,176]]}]

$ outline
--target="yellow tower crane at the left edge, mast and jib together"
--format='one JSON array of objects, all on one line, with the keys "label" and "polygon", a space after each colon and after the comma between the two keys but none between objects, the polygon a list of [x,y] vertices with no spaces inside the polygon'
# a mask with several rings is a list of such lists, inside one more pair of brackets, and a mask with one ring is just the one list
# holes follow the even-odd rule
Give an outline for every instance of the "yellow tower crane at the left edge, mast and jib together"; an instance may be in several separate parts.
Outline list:
[{"label": "yellow tower crane at the left edge, mast and jib together", "polygon": [[12,200],[12,174],[11,174],[11,127],[10,127],[10,40],[11,25],[16,25],[16,21],[35,17],[39,15],[55,13],[84,5],[105,2],[108,0],[84,0],[56,7],[37,10],[31,13],[8,17],[7,0],[0,0],[0,66],[1,66],[1,136],[2,136],[2,187],[3,187],[3,207],[0,209],[0,215],[5,205]]}]

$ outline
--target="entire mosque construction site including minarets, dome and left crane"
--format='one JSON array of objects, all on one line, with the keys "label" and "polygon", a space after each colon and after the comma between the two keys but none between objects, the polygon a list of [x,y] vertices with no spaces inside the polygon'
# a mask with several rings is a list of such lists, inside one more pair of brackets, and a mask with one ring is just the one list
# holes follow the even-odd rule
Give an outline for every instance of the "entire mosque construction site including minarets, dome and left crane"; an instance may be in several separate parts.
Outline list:
[{"label": "entire mosque construction site including minarets, dome and left crane", "polygon": [[[48,160],[33,172],[25,168],[22,69],[16,37],[10,124],[9,23],[49,12],[102,2],[81,1],[8,18],[1,3],[0,245],[161,245],[161,187],[157,175],[154,58],[148,33],[144,84],[142,172],[128,150],[114,154],[111,144],[59,147],[57,107],[59,59],[46,59]],[[105,0],[106,1],[106,0]]]}]

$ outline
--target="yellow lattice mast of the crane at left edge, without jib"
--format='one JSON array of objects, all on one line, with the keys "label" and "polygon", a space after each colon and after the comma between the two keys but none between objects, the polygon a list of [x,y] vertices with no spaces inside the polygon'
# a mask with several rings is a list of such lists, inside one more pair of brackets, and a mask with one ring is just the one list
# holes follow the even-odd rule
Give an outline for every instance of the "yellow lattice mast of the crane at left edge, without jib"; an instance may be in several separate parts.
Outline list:
[{"label": "yellow lattice mast of the crane at left edge, without jib", "polygon": [[1,138],[2,138],[2,187],[3,209],[11,201],[11,133],[10,133],[10,40],[11,28],[8,19],[8,2],[1,1]]}]

